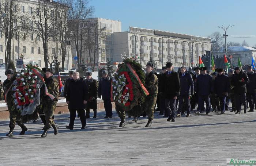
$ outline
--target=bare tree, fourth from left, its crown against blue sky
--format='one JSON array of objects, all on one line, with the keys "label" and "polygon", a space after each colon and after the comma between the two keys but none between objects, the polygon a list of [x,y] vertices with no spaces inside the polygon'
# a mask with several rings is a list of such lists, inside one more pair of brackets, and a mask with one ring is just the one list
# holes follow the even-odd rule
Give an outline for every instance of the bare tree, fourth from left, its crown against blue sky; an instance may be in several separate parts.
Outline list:
[{"label": "bare tree, fourth from left, its crown against blue sky", "polygon": [[69,30],[71,31],[72,42],[75,43],[76,54],[78,56],[78,67],[82,62],[82,50],[85,41],[85,22],[94,11],[94,7],[89,6],[89,0],[75,0],[72,8],[68,12]]}]

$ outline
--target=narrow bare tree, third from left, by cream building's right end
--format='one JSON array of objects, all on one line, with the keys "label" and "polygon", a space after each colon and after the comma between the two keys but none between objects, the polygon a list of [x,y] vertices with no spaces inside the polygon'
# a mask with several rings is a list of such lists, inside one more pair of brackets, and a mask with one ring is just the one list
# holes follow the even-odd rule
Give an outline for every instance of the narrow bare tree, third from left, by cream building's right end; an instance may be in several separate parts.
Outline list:
[{"label": "narrow bare tree, third from left, by cream building's right end", "polygon": [[67,55],[66,41],[68,37],[68,10],[72,5],[71,0],[58,0],[59,4],[55,5],[55,22],[56,22],[56,32],[59,37],[60,47],[61,47],[61,63],[62,69],[64,70],[65,59]]}]

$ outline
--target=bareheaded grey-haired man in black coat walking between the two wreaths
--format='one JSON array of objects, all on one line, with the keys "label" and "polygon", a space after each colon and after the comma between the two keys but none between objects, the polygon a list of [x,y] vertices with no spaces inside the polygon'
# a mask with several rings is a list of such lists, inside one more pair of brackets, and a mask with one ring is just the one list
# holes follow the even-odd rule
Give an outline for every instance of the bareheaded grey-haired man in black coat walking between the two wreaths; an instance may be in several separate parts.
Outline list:
[{"label": "bareheaded grey-haired man in black coat walking between the two wreaths", "polygon": [[75,72],[73,78],[69,83],[67,89],[67,104],[69,105],[70,123],[66,128],[73,130],[74,122],[76,118],[76,111],[80,115],[80,121],[82,123],[81,130],[85,129],[86,117],[85,117],[85,104],[87,103],[87,86],[83,78],[79,77],[79,73]]}]

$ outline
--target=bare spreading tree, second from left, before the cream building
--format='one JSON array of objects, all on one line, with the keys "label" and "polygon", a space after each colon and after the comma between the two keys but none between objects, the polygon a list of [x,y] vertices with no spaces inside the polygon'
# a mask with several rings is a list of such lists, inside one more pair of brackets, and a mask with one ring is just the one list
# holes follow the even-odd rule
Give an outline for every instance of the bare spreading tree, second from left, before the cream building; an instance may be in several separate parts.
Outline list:
[{"label": "bare spreading tree, second from left, before the cream building", "polygon": [[54,22],[54,5],[49,0],[38,0],[37,5],[31,7],[30,31],[42,38],[45,67],[51,62],[48,55],[48,42],[56,35],[56,22]]}]

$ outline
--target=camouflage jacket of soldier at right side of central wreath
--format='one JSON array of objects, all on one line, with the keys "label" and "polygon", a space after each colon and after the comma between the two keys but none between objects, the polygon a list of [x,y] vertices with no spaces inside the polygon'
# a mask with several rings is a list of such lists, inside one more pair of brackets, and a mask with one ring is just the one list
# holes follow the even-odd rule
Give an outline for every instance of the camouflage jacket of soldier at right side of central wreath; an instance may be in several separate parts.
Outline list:
[{"label": "camouflage jacket of soldier at right side of central wreath", "polygon": [[146,74],[145,88],[147,89],[149,96],[156,97],[158,93],[158,79],[157,76],[150,72]]}]

